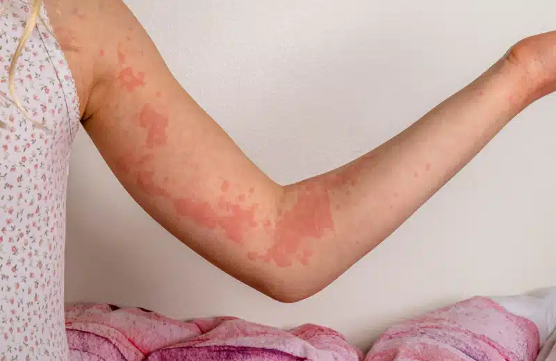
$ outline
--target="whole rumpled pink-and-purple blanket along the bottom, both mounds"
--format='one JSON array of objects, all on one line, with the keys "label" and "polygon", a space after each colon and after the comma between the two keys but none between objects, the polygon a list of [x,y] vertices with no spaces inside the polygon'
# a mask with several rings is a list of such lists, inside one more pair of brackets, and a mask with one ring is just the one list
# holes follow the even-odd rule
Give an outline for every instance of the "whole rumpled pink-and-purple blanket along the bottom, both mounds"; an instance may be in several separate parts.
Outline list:
[{"label": "whole rumpled pink-and-purple blanket along the bottom, both mounds", "polygon": [[[231,317],[175,321],[111,305],[74,305],[66,316],[72,361],[363,360],[338,332],[315,325],[284,331]],[[530,319],[472,298],[394,326],[365,360],[533,361],[541,338]]]}]

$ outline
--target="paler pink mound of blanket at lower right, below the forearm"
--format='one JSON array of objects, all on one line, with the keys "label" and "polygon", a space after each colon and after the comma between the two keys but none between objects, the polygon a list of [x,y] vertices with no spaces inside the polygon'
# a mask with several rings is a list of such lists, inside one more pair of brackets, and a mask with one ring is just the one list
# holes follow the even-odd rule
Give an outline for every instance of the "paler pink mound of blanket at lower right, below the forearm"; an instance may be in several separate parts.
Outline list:
[{"label": "paler pink mound of blanket at lower right, below the forearm", "polygon": [[489,298],[471,298],[384,332],[366,361],[532,361],[539,332]]}]

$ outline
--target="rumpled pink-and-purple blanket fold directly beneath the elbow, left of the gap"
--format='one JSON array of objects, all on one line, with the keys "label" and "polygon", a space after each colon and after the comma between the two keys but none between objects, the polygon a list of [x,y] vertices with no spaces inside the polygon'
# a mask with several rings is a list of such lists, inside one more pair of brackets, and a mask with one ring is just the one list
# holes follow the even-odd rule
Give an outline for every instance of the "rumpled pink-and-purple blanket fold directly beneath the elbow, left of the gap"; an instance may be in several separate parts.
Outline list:
[{"label": "rumpled pink-and-purple blanket fold directly beneath the elbow, left of the gap", "polygon": [[66,311],[72,361],[357,361],[338,332],[304,325],[288,332],[231,317],[182,322],[137,308],[74,305]]}]

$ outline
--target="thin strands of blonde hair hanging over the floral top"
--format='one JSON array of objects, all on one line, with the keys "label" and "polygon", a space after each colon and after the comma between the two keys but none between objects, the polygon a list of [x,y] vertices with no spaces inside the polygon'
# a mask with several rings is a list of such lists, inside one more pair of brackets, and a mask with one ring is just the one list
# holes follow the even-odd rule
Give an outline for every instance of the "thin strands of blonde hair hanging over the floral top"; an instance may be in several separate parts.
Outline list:
[{"label": "thin strands of blonde hair hanging over the floral top", "polygon": [[[27,22],[25,24],[25,29],[23,30],[22,36],[21,36],[21,38],[19,38],[19,44],[17,45],[17,48],[15,49],[15,53],[13,54],[12,62],[10,63],[10,72],[8,73],[8,85],[9,85],[9,88],[10,88],[10,94],[12,95],[13,99],[9,99],[6,96],[4,96],[4,97],[6,97],[6,99],[8,99],[8,101],[13,102],[13,104],[15,104],[17,106],[17,108],[19,108],[19,110],[22,111],[25,118],[27,118],[29,121],[33,122],[33,124],[37,125],[38,127],[45,128],[44,125],[40,124],[39,122],[37,122],[37,121],[35,121],[35,120],[33,120],[29,117],[25,107],[19,101],[19,98],[17,97],[17,91],[15,90],[15,72],[17,72],[17,60],[19,59],[19,56],[22,55],[23,49],[25,47],[25,43],[31,37],[31,33],[33,33],[33,29],[35,29],[35,26],[40,21],[40,22],[42,22],[44,27],[46,27],[48,29],[48,31],[51,32],[49,26],[44,24],[44,20],[40,16],[40,10],[42,8],[42,0],[29,0],[29,1],[30,1],[30,5],[31,5],[31,14],[29,15],[29,17],[27,19]],[[3,4],[3,6],[1,6],[0,13],[3,13],[4,11],[6,11],[6,6],[9,2],[10,1],[6,1]],[[2,122],[0,120],[0,127],[6,127],[6,123]]]}]

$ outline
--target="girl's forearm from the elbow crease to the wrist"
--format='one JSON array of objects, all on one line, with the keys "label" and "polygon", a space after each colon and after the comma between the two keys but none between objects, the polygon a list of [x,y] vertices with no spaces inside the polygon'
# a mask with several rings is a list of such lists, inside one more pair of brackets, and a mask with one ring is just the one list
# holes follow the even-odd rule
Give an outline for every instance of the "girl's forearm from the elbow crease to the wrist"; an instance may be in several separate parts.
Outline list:
[{"label": "girl's forearm from the elbow crease to the wrist", "polygon": [[287,186],[275,262],[286,267],[299,260],[306,267],[293,277],[310,279],[311,294],[325,287],[389,236],[530,103],[523,85],[521,72],[500,61],[372,152]]}]

